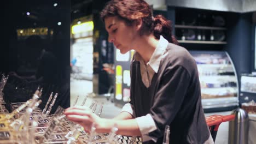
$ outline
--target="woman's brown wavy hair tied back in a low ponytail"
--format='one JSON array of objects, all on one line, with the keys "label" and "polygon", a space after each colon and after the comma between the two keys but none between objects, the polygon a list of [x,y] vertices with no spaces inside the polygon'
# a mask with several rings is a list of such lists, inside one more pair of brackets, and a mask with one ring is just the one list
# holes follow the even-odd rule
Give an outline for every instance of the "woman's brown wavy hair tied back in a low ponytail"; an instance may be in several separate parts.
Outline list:
[{"label": "woman's brown wavy hair tied back in a low ponytail", "polygon": [[169,43],[178,44],[178,41],[172,35],[171,21],[162,15],[153,17],[152,8],[143,0],[112,0],[109,1],[101,11],[101,19],[104,21],[107,17],[118,16],[124,20],[127,26],[133,22],[142,19],[140,34],[153,33],[156,39],[162,35]]}]

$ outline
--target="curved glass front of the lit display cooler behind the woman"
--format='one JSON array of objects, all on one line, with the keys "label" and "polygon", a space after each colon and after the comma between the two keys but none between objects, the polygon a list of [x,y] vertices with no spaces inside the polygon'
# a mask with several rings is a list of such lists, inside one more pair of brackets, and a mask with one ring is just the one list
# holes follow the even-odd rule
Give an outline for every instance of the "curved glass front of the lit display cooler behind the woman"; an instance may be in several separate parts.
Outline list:
[{"label": "curved glass front of the lit display cooler behind the woman", "polygon": [[238,105],[238,79],[232,59],[224,51],[190,51],[201,85],[206,112],[232,110]]}]

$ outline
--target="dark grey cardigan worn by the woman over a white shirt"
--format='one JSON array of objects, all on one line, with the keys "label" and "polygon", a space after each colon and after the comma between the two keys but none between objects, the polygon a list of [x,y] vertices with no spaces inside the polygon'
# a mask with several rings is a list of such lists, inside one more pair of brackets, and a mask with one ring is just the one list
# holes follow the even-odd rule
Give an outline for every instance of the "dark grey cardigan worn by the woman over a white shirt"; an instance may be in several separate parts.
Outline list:
[{"label": "dark grey cardigan worn by the woman over a white shirt", "polygon": [[[194,58],[181,46],[168,44],[151,85],[144,86],[138,61],[131,63],[131,101],[136,117],[148,113],[157,130],[149,136],[162,143],[170,125],[170,143],[204,143],[210,133],[201,104],[200,82]],[[147,141],[144,143],[154,143]]]}]

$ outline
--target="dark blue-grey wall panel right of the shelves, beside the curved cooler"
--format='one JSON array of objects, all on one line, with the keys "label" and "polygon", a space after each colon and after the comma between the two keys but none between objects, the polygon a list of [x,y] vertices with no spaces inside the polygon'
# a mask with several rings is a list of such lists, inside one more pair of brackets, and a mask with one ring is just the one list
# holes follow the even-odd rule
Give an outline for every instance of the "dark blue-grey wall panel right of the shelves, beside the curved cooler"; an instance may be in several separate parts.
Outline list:
[{"label": "dark blue-grey wall panel right of the shelves, beside the curved cooler", "polygon": [[[227,17],[227,41],[225,51],[232,58],[238,81],[242,73],[251,73],[252,14],[230,13]],[[240,89],[240,87],[239,87]]]}]

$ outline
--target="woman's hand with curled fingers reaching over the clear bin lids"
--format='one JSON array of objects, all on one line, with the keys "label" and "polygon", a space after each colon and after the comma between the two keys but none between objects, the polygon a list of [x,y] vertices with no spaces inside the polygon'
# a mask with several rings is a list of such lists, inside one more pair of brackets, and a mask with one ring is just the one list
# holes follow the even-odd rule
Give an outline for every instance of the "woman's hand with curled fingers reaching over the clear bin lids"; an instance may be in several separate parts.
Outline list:
[{"label": "woman's hand with curled fingers reaching over the clear bin lids", "polygon": [[73,106],[65,110],[64,114],[69,121],[80,124],[86,132],[91,130],[92,123],[95,123],[96,131],[101,127],[101,118],[87,106]]}]

